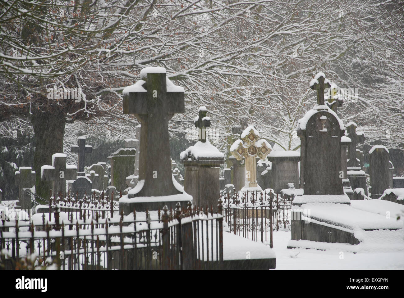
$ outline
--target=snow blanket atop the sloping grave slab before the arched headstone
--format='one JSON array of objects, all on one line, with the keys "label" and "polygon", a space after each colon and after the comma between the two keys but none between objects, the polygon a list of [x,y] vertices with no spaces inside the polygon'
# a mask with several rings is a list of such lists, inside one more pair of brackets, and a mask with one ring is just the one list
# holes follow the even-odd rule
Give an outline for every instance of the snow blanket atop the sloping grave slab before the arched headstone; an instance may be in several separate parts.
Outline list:
[{"label": "snow blanket atop the sloping grave slab before the arched headstone", "polygon": [[[367,201],[366,201],[367,202]],[[295,203],[295,202],[293,202]],[[346,229],[402,229],[404,222],[395,216],[387,218],[346,204],[309,203],[292,210],[300,210],[304,216]]]}]

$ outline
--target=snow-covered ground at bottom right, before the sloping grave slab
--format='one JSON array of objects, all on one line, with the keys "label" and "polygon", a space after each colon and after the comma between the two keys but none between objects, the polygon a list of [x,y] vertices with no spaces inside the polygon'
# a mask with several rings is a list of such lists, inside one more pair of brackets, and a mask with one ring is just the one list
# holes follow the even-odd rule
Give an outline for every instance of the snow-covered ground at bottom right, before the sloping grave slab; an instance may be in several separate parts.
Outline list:
[{"label": "snow-covered ground at bottom right, before the sloping grave slab", "polygon": [[[347,252],[341,243],[326,243],[335,249],[316,250],[305,248],[288,249],[290,231],[273,233],[278,270],[339,270],[339,269],[404,269],[404,245],[399,251]],[[402,240],[402,239],[401,239]],[[401,242],[399,240],[399,242]],[[342,252],[342,253],[341,253]]]}]

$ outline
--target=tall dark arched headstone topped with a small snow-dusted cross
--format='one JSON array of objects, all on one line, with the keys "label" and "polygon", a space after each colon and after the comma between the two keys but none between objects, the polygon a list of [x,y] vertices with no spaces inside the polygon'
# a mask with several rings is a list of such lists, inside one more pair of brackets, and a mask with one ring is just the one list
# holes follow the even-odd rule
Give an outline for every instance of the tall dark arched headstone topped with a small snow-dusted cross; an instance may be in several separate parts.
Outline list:
[{"label": "tall dark arched headstone topped with a small snow-dusted cross", "polygon": [[[310,87],[317,91],[317,105],[298,122],[300,185],[305,195],[342,195],[341,137],[345,127],[337,114],[324,105],[324,88],[330,88],[324,73],[318,73]],[[273,171],[272,167],[272,175]]]}]

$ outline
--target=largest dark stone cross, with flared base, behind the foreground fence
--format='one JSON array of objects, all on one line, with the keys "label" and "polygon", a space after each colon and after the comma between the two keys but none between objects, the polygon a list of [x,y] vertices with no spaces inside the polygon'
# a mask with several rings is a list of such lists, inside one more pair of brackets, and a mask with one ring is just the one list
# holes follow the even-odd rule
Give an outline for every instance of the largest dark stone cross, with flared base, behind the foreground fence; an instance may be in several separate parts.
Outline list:
[{"label": "largest dark stone cross, with flared base, behind the foreground fence", "polygon": [[123,90],[124,114],[135,114],[141,122],[139,182],[144,180],[140,191],[128,197],[179,194],[171,173],[168,120],[185,111],[184,89],[175,86],[162,67],[146,67],[140,78]]}]

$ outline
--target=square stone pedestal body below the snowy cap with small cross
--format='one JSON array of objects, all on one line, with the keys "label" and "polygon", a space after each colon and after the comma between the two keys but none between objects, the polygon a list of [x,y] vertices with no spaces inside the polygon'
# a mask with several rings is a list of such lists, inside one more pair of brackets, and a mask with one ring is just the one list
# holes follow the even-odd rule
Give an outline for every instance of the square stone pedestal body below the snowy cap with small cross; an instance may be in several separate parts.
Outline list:
[{"label": "square stone pedestal body below the snowy cap with small cross", "polygon": [[196,206],[216,206],[220,192],[219,170],[223,160],[183,161],[184,191]]}]

